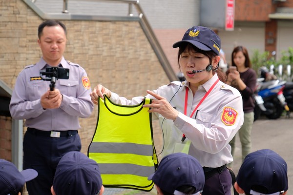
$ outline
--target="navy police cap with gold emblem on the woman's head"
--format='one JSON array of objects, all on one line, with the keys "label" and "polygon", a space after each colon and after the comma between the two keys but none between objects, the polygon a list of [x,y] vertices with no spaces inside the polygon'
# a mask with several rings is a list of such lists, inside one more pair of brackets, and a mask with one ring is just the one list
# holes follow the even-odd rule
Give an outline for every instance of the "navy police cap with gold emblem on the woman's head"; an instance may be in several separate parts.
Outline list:
[{"label": "navy police cap with gold emblem on the woman's head", "polygon": [[173,44],[173,47],[180,47],[182,43],[191,43],[203,51],[213,51],[220,55],[221,39],[211,29],[204,26],[193,26],[184,34],[182,40]]}]

